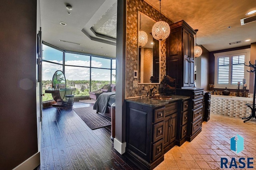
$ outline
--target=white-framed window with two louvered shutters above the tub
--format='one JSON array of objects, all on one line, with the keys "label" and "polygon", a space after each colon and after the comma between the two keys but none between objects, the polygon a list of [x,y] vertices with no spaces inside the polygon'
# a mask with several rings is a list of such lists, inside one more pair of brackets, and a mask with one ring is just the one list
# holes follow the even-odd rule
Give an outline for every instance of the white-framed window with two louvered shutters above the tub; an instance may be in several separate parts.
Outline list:
[{"label": "white-framed window with two louvered shutters above the tub", "polygon": [[244,63],[248,65],[250,61],[250,49],[215,53],[214,56],[214,88],[236,89],[240,82],[240,89],[242,89],[243,79],[246,79],[246,85],[249,87],[249,73],[246,69],[250,68],[244,66]]}]

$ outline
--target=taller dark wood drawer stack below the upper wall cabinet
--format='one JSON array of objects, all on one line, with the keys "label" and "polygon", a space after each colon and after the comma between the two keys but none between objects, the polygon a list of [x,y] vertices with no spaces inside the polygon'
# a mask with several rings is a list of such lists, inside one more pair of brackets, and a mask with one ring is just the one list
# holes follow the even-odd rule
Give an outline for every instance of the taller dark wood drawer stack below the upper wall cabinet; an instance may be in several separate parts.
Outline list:
[{"label": "taller dark wood drawer stack below the upper wall cabinet", "polygon": [[178,95],[190,96],[187,111],[187,141],[192,141],[202,131],[203,90],[202,88],[176,89]]}]

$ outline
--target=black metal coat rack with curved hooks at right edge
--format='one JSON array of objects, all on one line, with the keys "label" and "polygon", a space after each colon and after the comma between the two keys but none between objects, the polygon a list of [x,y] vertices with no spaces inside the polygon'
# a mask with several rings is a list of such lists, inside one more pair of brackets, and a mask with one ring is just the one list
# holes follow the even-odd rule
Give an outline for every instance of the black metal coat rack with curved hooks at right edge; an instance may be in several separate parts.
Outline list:
[{"label": "black metal coat rack with curved hooks at right edge", "polygon": [[253,102],[252,102],[252,104],[246,104],[246,106],[250,107],[250,109],[252,110],[252,113],[251,113],[251,115],[250,115],[249,117],[242,117],[242,119],[246,119],[246,120],[244,121],[244,123],[245,123],[246,121],[250,120],[251,118],[255,118],[255,119],[256,119],[256,115],[255,115],[255,111],[256,111],[256,108],[255,108],[255,93],[256,93],[256,86],[255,86],[255,85],[256,85],[256,74],[255,74],[255,72],[256,72],[256,60],[255,60],[255,64],[251,64],[251,61],[249,61],[249,65],[246,65],[245,63],[244,63],[244,65],[253,68],[253,70],[250,70],[250,71],[247,70],[248,72],[254,72]]}]

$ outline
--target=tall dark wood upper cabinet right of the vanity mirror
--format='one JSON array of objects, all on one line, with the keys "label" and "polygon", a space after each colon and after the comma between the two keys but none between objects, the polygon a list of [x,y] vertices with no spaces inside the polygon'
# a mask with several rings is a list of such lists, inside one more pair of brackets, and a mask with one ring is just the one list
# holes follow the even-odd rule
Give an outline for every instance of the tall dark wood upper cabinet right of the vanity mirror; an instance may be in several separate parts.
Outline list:
[{"label": "tall dark wood upper cabinet right of the vanity mirror", "polygon": [[184,20],[170,25],[166,39],[166,75],[176,78],[177,88],[194,86],[194,35]]}]

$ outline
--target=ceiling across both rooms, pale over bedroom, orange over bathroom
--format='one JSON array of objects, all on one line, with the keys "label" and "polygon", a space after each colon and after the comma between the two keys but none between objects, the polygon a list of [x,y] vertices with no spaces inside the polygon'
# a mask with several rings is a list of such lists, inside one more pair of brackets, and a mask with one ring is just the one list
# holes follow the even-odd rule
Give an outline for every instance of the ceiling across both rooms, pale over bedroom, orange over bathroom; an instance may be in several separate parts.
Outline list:
[{"label": "ceiling across both rooms, pale over bedroom, orange over bathroom", "polygon": [[[159,0],[145,1],[159,9]],[[116,42],[113,38],[116,0],[75,0],[68,3],[73,7],[69,11],[70,15],[66,9],[66,0],[40,0],[43,41],[67,51],[116,57]],[[247,12],[256,10],[256,0],[162,0],[161,5],[162,14],[172,21],[184,20],[193,29],[198,29],[196,42],[208,51],[256,42],[256,22],[240,24],[240,19],[248,17],[245,15]],[[67,25],[60,25],[60,22]],[[105,27],[99,29],[100,25]],[[99,33],[104,30],[103,34],[108,37],[95,35],[91,29],[93,26]],[[228,29],[228,26],[232,27]],[[112,32],[107,33],[108,29]],[[244,42],[246,39],[251,41]],[[240,40],[242,43],[229,45]]]}]

